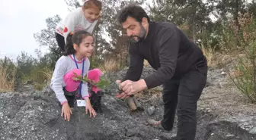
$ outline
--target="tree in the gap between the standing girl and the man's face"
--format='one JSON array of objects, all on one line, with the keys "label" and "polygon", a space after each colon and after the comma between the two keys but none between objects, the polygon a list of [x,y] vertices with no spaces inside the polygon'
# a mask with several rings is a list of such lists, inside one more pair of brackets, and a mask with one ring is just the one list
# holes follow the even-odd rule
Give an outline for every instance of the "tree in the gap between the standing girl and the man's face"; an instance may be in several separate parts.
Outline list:
[{"label": "tree in the gap between the standing girl and the man's face", "polygon": [[[141,5],[144,0],[130,1]],[[102,11],[103,26],[110,38],[110,45],[104,47],[106,51],[105,56],[107,59],[115,58],[120,67],[125,67],[128,64],[128,42],[126,33],[122,29],[122,26],[117,22],[117,13],[121,8],[128,5],[130,2],[126,1],[104,1],[104,9]]]}]

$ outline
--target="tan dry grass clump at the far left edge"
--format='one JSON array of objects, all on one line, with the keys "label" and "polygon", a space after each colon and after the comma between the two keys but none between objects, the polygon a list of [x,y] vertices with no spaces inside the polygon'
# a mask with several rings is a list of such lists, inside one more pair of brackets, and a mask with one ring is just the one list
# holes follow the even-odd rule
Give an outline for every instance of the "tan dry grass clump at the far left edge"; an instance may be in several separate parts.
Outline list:
[{"label": "tan dry grass clump at the far left edge", "polygon": [[0,67],[0,92],[14,91],[16,68],[8,71],[6,67]]}]

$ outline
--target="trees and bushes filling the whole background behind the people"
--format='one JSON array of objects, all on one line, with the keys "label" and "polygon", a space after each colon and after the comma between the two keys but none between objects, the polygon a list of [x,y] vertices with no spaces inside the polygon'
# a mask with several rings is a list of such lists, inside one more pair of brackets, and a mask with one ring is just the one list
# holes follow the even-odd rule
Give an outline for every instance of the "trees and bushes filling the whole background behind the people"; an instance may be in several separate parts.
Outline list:
[{"label": "trees and bushes filling the whole background behind the people", "polygon": [[[78,8],[78,0],[65,0],[69,10]],[[90,58],[91,69],[101,67],[104,61],[114,59],[104,67],[110,67],[114,64],[120,68],[126,67],[128,64],[127,42],[129,41],[122,30],[119,23],[117,23],[116,15],[120,8],[123,8],[130,2],[136,2],[142,5],[145,0],[134,1],[112,1],[102,0],[103,8],[101,11],[101,20],[98,26],[94,29],[94,55]],[[254,46],[256,36],[253,32],[256,30],[255,22],[248,23],[238,18],[239,13],[248,11],[256,16],[256,4],[242,1],[216,1],[208,0],[155,0],[153,5],[143,6],[155,21],[170,21],[177,24],[190,39],[199,42],[205,46],[206,50],[213,50],[219,48],[229,52],[230,50],[245,51],[246,60],[243,58],[239,61],[236,69],[244,73],[241,79],[235,79],[238,83],[238,88],[251,98],[254,87]],[[210,20],[210,17],[216,17],[216,20]],[[15,81],[22,79],[23,82],[28,80],[34,82],[37,89],[42,89],[46,84],[49,84],[56,61],[61,57],[59,46],[55,39],[55,28],[59,21],[62,20],[59,15],[49,17],[46,19],[46,29],[40,30],[39,33],[34,33],[34,39],[39,42],[40,46],[47,46],[49,50],[43,54],[37,50],[38,59],[21,52],[17,58],[17,64],[14,64],[9,58],[0,60],[0,66],[6,68],[6,81],[11,81],[15,76]],[[246,23],[246,26],[244,26]],[[106,40],[106,36],[110,40]],[[211,54],[211,52],[209,53]],[[246,63],[245,63],[246,62]],[[248,67],[248,65],[250,67]],[[252,67],[252,68],[251,68]],[[13,74],[13,70],[15,74]],[[113,70],[111,67],[108,70]],[[251,78],[251,79],[250,79]],[[88,81],[86,77],[83,79]],[[93,83],[93,82],[91,82]],[[101,79],[101,82],[94,83],[95,86],[106,88],[109,84],[107,79]],[[255,90],[254,90],[255,91]],[[253,99],[253,98],[252,98]]]}]

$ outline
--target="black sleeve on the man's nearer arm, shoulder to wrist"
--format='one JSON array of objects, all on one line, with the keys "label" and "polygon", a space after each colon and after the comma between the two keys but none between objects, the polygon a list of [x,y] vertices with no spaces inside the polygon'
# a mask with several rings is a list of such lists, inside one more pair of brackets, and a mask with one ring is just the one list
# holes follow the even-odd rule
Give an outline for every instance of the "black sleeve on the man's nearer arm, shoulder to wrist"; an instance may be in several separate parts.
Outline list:
[{"label": "black sleeve on the man's nearer arm, shoulder to wrist", "polygon": [[157,36],[158,40],[156,41],[159,42],[158,54],[161,67],[144,79],[148,89],[160,86],[166,80],[171,79],[174,76],[178,59],[181,39],[177,30],[173,28],[159,30]]}]

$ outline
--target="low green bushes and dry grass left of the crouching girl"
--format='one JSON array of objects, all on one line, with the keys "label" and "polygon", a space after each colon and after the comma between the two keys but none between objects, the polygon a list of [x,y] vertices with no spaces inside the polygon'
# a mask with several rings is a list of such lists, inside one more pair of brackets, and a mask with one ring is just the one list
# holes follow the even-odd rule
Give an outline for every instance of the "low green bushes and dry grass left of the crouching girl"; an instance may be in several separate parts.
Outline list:
[{"label": "low green bushes and dry grass left of the crouching girl", "polygon": [[[13,90],[16,86],[22,86],[23,83],[31,81],[35,89],[41,90],[50,82],[52,70],[48,59],[33,58],[24,51],[18,56],[16,64],[10,58],[0,60],[2,78],[2,87],[5,90]],[[12,82],[13,81],[13,82]]]}]

